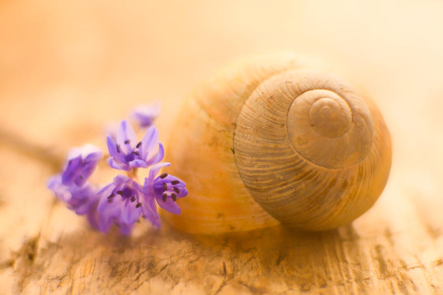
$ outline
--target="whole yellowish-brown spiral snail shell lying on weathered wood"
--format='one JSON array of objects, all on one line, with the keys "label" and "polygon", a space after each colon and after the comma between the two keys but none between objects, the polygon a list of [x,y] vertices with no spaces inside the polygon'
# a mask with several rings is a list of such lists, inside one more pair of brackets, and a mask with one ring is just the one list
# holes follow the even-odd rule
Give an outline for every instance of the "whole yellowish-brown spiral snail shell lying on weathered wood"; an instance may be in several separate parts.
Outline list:
[{"label": "whole yellowish-brown spiral snail shell lying on weathered wood", "polygon": [[190,194],[180,215],[162,216],[190,233],[350,223],[391,165],[376,105],[296,57],[228,68],[191,95],[172,134],[169,171]]}]

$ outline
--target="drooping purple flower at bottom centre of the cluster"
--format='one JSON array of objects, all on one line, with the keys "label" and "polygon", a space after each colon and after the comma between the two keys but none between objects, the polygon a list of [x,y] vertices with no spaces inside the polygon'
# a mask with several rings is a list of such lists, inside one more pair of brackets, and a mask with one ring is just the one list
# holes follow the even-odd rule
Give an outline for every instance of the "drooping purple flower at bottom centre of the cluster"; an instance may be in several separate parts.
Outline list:
[{"label": "drooping purple flower at bottom centre of the cluster", "polygon": [[140,185],[131,178],[119,174],[98,194],[100,230],[107,233],[110,227],[116,224],[123,234],[129,235],[142,212],[143,192]]}]

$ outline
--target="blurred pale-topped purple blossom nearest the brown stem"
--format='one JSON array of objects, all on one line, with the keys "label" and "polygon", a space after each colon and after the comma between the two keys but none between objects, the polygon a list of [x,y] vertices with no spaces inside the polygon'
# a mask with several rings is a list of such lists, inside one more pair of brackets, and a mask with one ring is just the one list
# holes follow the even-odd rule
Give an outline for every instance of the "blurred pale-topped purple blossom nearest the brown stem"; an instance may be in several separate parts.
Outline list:
[{"label": "blurred pale-topped purple blossom nearest the brown stem", "polygon": [[62,183],[64,185],[82,186],[91,176],[97,162],[102,157],[101,150],[90,144],[81,148],[72,148],[64,165]]}]

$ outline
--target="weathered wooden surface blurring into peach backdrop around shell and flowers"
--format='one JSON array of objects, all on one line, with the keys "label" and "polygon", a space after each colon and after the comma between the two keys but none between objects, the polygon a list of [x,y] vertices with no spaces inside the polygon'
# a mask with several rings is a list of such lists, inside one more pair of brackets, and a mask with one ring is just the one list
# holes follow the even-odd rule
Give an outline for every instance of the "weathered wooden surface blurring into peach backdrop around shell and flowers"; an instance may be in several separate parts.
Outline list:
[{"label": "weathered wooden surface blurring into peach backdrop around shell and flowers", "polygon": [[[443,294],[443,3],[0,1],[0,294]],[[229,60],[294,50],[374,98],[393,166],[351,225],[105,236],[46,189],[71,146]]]}]

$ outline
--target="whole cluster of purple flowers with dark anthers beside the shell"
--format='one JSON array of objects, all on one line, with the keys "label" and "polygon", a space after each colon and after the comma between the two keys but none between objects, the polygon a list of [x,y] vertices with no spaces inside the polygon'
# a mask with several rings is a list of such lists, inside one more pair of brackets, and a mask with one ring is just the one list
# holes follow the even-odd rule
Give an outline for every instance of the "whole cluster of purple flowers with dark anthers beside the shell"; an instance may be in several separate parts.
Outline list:
[{"label": "whole cluster of purple flowers with dark anthers beside the shell", "polygon": [[[141,116],[139,114],[139,116]],[[149,113],[144,120],[152,123]],[[157,115],[155,115],[157,116]],[[146,124],[141,124],[146,126]],[[61,174],[50,178],[48,187],[79,215],[86,215],[91,225],[107,233],[113,225],[129,235],[140,215],[160,226],[157,205],[175,214],[180,213],[176,200],[188,195],[186,184],[178,177],[162,173],[170,163],[160,162],[164,149],[158,142],[158,130],[149,126],[141,141],[137,140],[127,120],[120,123],[117,134],[107,136],[110,167],[126,171],[98,189],[88,178],[103,157],[99,148],[85,145],[70,151]],[[143,185],[137,180],[137,169],[149,169]]]}]

